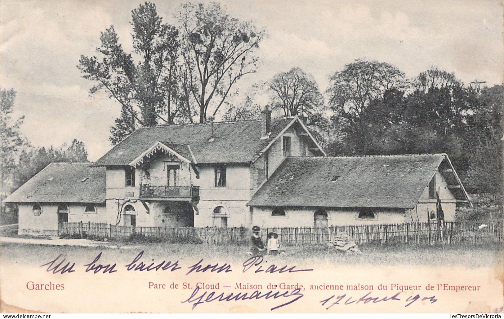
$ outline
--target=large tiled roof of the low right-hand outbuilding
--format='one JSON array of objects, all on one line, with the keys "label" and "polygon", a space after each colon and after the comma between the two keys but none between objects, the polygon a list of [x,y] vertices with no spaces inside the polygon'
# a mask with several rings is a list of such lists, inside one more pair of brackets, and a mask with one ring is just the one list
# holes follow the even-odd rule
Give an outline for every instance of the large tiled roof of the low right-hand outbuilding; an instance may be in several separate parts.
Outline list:
[{"label": "large tiled roof of the low right-hand outbuilding", "polygon": [[412,208],[445,156],[288,157],[247,205]]}]

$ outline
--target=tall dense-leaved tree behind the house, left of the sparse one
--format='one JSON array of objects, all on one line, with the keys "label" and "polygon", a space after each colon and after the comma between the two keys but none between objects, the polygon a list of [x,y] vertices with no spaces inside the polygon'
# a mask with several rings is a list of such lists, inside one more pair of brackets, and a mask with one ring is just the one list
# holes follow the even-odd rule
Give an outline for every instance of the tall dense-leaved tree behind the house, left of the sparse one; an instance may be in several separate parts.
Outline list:
[{"label": "tall dense-leaved tree behind the house, left of the sparse one", "polygon": [[[79,70],[95,83],[90,94],[105,90],[121,105],[121,117],[112,128],[112,142],[135,126],[154,126],[161,119],[172,124],[183,110],[178,103],[178,30],[162,23],[150,2],[132,11],[133,48],[124,52],[113,26],[101,33],[99,57],[81,56]],[[135,57],[135,58],[134,58]],[[175,102],[174,102],[175,100]]]}]

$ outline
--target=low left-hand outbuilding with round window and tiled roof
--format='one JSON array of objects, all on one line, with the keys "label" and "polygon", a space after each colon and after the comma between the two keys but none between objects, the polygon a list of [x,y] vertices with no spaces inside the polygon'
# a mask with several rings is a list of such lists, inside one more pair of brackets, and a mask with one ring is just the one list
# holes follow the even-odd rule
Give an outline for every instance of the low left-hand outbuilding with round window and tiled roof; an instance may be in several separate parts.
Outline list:
[{"label": "low left-hand outbuilding with round window and tiled roof", "polygon": [[107,222],[105,168],[51,163],[7,197],[19,209],[19,234],[57,235],[60,222]]}]

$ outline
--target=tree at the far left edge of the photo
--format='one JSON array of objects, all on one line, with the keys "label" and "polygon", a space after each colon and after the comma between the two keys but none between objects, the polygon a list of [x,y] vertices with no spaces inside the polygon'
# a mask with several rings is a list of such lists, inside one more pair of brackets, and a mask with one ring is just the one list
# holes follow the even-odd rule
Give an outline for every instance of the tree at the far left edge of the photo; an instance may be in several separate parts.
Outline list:
[{"label": "tree at the far left edge of the photo", "polygon": [[19,132],[24,116],[18,119],[12,117],[15,100],[16,91],[14,89],[0,88],[0,156],[2,160],[2,167],[0,167],[0,198],[7,195],[5,183],[11,178],[11,173],[17,161],[17,153],[25,144],[25,140]]}]

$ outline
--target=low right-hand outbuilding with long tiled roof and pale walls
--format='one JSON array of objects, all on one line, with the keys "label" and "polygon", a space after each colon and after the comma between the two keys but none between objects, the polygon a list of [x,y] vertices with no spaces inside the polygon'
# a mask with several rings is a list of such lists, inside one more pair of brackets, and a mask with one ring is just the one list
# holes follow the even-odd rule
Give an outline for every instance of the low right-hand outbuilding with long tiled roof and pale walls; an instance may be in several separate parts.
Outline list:
[{"label": "low right-hand outbuilding with long tiled roof and pale walls", "polygon": [[453,221],[458,204],[447,154],[287,157],[247,203],[264,227]]}]

